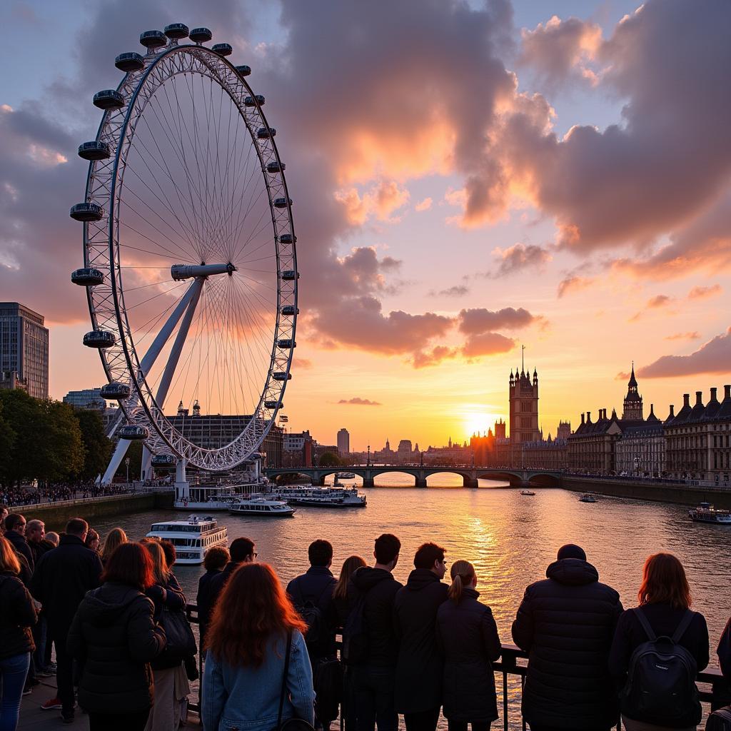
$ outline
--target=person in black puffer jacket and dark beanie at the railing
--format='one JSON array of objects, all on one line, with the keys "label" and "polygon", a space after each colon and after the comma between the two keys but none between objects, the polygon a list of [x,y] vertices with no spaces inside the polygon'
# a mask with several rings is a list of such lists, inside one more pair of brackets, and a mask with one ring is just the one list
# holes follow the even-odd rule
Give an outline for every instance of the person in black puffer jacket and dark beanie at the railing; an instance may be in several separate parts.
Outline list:
[{"label": "person in black puffer jacket and dark beanie at the railing", "polygon": [[529,654],[523,718],[531,731],[608,731],[619,718],[607,661],[622,605],[577,545],[526,588],[512,624]]}]

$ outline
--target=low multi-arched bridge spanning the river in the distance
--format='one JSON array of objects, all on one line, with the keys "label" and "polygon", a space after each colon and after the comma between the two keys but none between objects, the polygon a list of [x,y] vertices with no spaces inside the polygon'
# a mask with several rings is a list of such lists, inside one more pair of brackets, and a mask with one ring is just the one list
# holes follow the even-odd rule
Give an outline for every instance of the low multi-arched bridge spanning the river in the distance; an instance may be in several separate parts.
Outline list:
[{"label": "low multi-arched bridge spanning the river in the distance", "polygon": [[308,477],[313,485],[325,485],[325,478],[338,472],[352,472],[363,479],[364,488],[374,487],[374,480],[379,474],[409,474],[414,477],[417,488],[427,486],[426,479],[432,474],[458,474],[466,488],[476,488],[477,480],[501,480],[520,487],[558,488],[561,486],[562,473],[541,469],[516,469],[501,467],[475,466],[423,466],[423,465],[348,465],[339,467],[279,467],[265,469],[270,480],[280,475],[292,474]]}]

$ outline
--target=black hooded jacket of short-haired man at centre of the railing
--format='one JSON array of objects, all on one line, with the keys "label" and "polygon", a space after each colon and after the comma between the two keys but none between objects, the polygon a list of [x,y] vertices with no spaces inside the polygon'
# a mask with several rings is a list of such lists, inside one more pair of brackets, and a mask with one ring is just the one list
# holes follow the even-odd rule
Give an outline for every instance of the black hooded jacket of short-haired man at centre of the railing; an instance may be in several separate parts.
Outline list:
[{"label": "black hooded jacket of short-haired man at centre of the railing", "polygon": [[395,667],[398,640],[393,626],[393,600],[401,586],[390,571],[369,566],[357,569],[350,577],[349,605],[354,604],[358,592],[366,594],[363,619],[368,632],[368,665]]}]

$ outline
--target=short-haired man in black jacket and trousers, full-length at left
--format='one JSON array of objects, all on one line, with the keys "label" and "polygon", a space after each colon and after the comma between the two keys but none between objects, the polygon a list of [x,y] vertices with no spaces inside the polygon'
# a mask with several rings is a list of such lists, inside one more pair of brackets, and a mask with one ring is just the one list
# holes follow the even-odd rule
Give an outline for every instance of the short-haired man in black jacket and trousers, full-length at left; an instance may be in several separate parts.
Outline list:
[{"label": "short-haired man in black jacket and trousers, full-length at left", "polygon": [[84,545],[88,523],[72,518],[66,525],[58,548],[45,553],[38,561],[31,580],[31,594],[43,606],[48,618],[48,632],[56,645],[56,685],[58,698],[45,702],[42,708],[58,708],[71,723],[74,719],[74,680],[72,658],[66,649],[67,635],[84,594],[99,586],[102,561]]}]

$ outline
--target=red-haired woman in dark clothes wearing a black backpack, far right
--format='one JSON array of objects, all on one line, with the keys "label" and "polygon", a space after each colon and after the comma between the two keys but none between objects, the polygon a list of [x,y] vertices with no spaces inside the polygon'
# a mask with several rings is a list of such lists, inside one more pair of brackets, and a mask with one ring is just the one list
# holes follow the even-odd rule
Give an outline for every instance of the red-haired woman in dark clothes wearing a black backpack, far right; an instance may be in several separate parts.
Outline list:
[{"label": "red-haired woman in dark clothes wearing a black backpack, far right", "polygon": [[[708,665],[708,626],[700,612],[690,610],[692,598],[683,564],[672,553],[649,556],[637,599],[640,606],[619,617],[609,656],[610,673],[618,687],[624,687],[620,703],[624,727],[626,731],[695,731],[702,711],[693,685],[695,674]],[[656,638],[660,642],[653,646]],[[635,655],[640,645],[643,647]],[[650,675],[645,677],[647,664],[641,656],[651,657],[658,648],[666,660],[653,663]],[[683,664],[687,674],[692,675],[687,689],[673,687],[665,694],[648,690],[653,686],[665,689],[667,678],[659,675],[677,677],[673,668],[677,670]],[[633,672],[627,681],[630,670]],[[640,704],[636,692],[645,696]],[[678,704],[677,699],[684,694],[689,698]],[[673,708],[674,705],[682,708]]]}]

